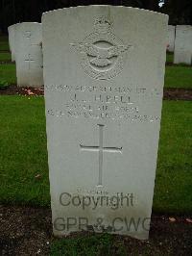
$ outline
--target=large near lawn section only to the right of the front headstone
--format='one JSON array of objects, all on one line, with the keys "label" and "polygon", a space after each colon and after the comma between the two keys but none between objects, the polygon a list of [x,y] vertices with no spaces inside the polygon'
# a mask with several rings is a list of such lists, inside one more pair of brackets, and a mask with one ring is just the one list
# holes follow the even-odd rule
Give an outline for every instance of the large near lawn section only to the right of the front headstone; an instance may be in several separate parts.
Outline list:
[{"label": "large near lawn section only to the right of the front headstone", "polygon": [[192,214],[192,102],[164,101],[153,210]]}]

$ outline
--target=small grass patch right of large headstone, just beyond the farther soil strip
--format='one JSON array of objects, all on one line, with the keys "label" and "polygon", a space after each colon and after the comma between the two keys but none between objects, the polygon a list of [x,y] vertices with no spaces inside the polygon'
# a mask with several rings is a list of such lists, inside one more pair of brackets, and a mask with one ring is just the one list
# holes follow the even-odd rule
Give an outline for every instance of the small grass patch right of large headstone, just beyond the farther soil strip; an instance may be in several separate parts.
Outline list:
[{"label": "small grass patch right of large headstone, just beyond the farther soil strip", "polygon": [[166,66],[165,88],[192,89],[192,67],[181,65]]}]

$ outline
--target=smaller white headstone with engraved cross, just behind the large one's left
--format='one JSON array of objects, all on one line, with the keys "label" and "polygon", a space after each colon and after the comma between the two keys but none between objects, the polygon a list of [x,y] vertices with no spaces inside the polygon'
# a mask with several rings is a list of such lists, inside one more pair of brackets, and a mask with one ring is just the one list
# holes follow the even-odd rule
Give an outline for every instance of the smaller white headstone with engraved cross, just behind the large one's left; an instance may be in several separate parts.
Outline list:
[{"label": "smaller white headstone with engraved cross, just behind the large one's left", "polygon": [[20,23],[15,27],[14,38],[17,85],[41,87],[43,85],[41,24]]}]

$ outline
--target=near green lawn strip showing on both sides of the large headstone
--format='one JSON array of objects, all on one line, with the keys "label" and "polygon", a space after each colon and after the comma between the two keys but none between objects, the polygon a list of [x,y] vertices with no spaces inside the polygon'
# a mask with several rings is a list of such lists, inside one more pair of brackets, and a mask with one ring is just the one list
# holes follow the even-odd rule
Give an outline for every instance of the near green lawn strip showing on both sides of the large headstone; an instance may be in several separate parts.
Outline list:
[{"label": "near green lawn strip showing on both sides of the large headstone", "polygon": [[[44,100],[0,96],[0,203],[50,206]],[[154,211],[192,214],[192,102],[163,101]]]}]

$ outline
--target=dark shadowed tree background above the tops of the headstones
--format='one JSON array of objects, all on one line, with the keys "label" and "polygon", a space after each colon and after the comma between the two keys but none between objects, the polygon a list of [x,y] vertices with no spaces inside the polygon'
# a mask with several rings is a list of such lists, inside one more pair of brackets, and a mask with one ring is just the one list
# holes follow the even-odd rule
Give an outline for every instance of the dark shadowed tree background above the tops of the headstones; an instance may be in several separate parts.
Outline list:
[{"label": "dark shadowed tree background above the tops of the headstones", "polygon": [[[164,1],[160,8],[159,2]],[[192,24],[191,0],[0,0],[0,29],[23,21],[40,21],[41,14],[50,10],[80,5],[131,6],[170,16],[170,24]]]}]

